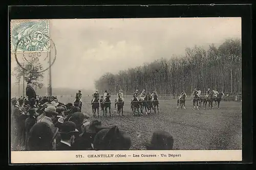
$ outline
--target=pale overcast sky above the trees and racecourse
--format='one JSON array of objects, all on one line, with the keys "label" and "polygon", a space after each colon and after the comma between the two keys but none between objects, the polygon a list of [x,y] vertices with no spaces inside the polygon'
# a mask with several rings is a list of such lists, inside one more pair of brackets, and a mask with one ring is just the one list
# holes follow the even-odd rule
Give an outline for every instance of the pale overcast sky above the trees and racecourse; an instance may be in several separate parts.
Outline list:
[{"label": "pale overcast sky above the trees and racecourse", "polygon": [[[115,74],[161,57],[182,55],[186,47],[241,38],[241,18],[53,19],[50,22],[50,37],[57,50],[52,87],[94,89],[94,81],[105,72]],[[15,65],[12,60],[12,67]]]}]

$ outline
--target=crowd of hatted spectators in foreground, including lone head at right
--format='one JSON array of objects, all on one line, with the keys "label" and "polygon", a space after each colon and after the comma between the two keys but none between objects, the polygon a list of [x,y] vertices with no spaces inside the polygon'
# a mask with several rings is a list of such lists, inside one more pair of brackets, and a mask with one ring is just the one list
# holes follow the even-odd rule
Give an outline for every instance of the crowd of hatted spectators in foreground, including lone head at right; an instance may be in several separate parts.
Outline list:
[{"label": "crowd of hatted spectators in foreground, including lone head at right", "polygon": [[[147,150],[172,150],[174,139],[156,131]],[[72,103],[56,96],[11,99],[12,151],[129,150],[131,136],[117,126],[103,127]]]}]

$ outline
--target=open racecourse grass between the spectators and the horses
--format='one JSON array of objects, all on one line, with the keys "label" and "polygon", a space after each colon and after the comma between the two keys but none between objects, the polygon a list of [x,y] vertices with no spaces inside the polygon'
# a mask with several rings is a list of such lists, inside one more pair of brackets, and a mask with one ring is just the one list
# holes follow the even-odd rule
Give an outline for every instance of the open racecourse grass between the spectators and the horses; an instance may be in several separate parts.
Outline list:
[{"label": "open racecourse grass between the spectators and the horses", "polygon": [[[73,103],[74,98],[62,96],[58,100]],[[93,118],[91,96],[82,98],[82,112],[91,119],[99,119],[103,126],[117,125],[132,137],[132,150],[144,150],[144,144],[151,140],[156,130],[165,130],[174,137],[175,150],[238,150],[242,149],[242,102],[221,101],[220,109],[213,105],[212,110],[192,110],[193,102],[186,100],[186,110],[177,109],[177,100],[159,101],[159,114],[151,111],[150,115],[133,116],[130,101],[124,99],[124,116],[118,116],[113,97],[111,117],[103,117],[99,109],[99,118]]]}]

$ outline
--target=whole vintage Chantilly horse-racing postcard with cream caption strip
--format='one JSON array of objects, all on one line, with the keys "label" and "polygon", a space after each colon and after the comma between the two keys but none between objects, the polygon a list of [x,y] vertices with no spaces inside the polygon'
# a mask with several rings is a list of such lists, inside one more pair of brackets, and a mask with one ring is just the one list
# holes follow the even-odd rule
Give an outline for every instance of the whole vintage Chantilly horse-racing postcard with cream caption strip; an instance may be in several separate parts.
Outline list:
[{"label": "whole vintage Chantilly horse-racing postcard with cream caption strip", "polygon": [[11,20],[11,163],[241,161],[241,28]]}]

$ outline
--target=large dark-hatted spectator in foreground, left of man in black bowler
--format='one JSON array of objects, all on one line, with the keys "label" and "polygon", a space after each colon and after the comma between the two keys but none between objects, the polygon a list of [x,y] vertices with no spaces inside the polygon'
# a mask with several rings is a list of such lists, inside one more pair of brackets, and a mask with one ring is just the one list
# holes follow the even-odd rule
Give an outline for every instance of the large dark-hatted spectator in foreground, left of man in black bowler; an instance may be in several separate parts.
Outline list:
[{"label": "large dark-hatted spectator in foreground, left of man in black bowler", "polygon": [[29,151],[52,151],[56,150],[56,136],[58,128],[52,129],[47,123],[36,123],[29,133]]}]

